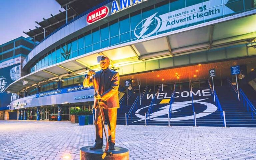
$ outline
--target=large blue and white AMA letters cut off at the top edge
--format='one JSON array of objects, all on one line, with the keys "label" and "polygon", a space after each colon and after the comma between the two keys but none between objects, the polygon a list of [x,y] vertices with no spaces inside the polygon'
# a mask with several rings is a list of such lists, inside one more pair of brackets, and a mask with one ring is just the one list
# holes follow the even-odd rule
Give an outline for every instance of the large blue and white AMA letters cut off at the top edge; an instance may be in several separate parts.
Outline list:
[{"label": "large blue and white AMA letters cut off at the top edge", "polygon": [[147,0],[119,0],[119,3],[117,1],[113,1],[112,7],[111,7],[111,14],[127,9],[129,7],[135,6],[136,4],[144,1],[147,1]]}]

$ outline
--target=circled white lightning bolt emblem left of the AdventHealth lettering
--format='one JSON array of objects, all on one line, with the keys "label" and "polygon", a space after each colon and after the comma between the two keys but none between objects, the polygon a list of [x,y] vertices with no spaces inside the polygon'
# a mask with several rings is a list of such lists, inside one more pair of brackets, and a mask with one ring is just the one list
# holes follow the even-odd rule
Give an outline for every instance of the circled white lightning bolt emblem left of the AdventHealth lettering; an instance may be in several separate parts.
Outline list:
[{"label": "circled white lightning bolt emblem left of the AdventHealth lettering", "polygon": [[[158,13],[158,12],[157,12],[157,13]],[[135,28],[135,30],[134,30],[134,35],[135,35],[138,39],[140,39],[141,37],[146,38],[146,37],[151,36],[152,34],[154,34],[155,32],[157,32],[158,29],[161,27],[162,21],[161,21],[160,18],[156,17],[156,14],[157,14],[157,13],[155,13],[155,14],[153,14],[152,16],[150,16],[150,17],[148,17],[148,18],[142,20],[142,21],[136,26],[136,28]],[[155,28],[152,32],[150,32],[150,33],[148,33],[148,34],[145,34],[145,33],[148,31],[148,29],[150,28],[150,27],[149,27],[150,24],[151,24],[154,20],[157,21],[156,28]],[[143,23],[143,22],[144,22],[144,23]],[[140,31],[139,35],[137,35],[136,31],[138,30],[137,28],[139,27],[139,25],[140,25],[141,23],[142,23],[143,25],[142,25],[142,28],[140,28],[141,31]]]}]

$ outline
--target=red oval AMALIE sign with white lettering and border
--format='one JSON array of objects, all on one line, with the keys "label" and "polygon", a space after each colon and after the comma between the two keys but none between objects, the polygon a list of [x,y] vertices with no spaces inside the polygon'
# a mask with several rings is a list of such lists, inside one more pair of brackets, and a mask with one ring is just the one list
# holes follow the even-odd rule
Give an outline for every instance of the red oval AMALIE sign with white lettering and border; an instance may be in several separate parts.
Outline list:
[{"label": "red oval AMALIE sign with white lettering and border", "polygon": [[108,7],[103,6],[99,9],[96,9],[88,14],[87,16],[87,22],[88,23],[94,23],[100,19],[105,18],[108,15]]}]

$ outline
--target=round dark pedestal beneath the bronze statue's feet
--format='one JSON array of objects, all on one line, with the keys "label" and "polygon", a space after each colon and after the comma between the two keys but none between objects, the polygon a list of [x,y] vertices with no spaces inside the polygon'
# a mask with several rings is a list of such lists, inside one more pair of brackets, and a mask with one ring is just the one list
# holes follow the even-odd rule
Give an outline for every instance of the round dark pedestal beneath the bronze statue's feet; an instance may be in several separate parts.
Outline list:
[{"label": "round dark pedestal beneath the bronze statue's feet", "polygon": [[[102,149],[90,150],[92,146],[82,147],[80,149],[80,160],[101,160],[105,146]],[[108,153],[104,160],[129,160],[129,151],[126,148],[115,147],[114,151]]]}]

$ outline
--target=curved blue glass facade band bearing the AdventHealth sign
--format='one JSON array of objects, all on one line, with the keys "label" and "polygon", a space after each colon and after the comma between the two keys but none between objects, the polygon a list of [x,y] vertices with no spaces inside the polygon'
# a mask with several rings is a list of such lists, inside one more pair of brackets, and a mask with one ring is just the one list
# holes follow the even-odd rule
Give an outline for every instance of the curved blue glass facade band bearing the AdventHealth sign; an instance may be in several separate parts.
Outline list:
[{"label": "curved blue glass facade band bearing the AdventHealth sign", "polygon": [[[147,38],[253,9],[252,0],[165,0],[79,35],[45,53],[34,72],[102,48]],[[146,26],[147,24],[147,26]]]}]

